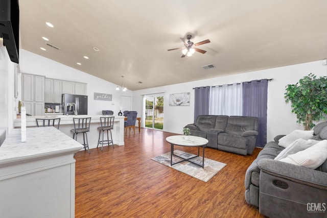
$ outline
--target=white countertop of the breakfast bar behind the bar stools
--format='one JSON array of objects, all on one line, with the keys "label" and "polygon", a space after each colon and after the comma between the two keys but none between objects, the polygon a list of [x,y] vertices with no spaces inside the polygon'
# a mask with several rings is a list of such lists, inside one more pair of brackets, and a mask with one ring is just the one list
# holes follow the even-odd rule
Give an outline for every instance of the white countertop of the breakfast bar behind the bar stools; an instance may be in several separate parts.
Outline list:
[{"label": "white countertop of the breakfast bar behind the bar stools", "polygon": [[[73,117],[91,117],[91,123],[100,123],[101,116],[111,116],[111,115],[46,115],[46,116],[26,116],[26,126],[36,127],[35,118],[60,118],[60,126],[65,124],[73,124]],[[114,116],[114,121],[119,122],[124,121],[124,116]],[[20,118],[14,119],[14,127],[20,127]]]}]

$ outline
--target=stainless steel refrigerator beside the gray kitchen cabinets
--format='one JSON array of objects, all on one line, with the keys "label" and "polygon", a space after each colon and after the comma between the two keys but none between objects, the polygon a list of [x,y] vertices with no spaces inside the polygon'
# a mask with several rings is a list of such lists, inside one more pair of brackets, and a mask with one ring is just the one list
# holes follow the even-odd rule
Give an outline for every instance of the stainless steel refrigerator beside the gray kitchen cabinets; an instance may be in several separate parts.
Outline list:
[{"label": "stainless steel refrigerator beside the gray kitchen cabinets", "polygon": [[61,104],[64,115],[87,115],[87,95],[62,94]]}]

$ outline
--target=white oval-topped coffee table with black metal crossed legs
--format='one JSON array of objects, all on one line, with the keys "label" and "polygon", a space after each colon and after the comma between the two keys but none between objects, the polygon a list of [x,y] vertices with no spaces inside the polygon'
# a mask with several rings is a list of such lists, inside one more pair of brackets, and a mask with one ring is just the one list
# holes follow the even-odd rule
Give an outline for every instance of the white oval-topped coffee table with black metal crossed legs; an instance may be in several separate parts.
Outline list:
[{"label": "white oval-topped coffee table with black metal crossed legs", "polygon": [[[204,146],[208,143],[208,140],[206,138],[202,138],[202,137],[198,137],[198,136],[193,136],[190,135],[189,139],[184,139],[184,135],[173,135],[173,136],[169,136],[166,138],[166,141],[168,141],[170,143],[170,149],[171,149],[171,153],[170,153],[170,165],[174,165],[177,163],[180,163],[182,161],[189,161],[191,163],[194,163],[198,166],[201,166],[202,168],[204,168]],[[174,154],[174,145],[176,146],[185,146],[185,147],[198,147],[198,155],[197,156],[193,156],[191,158],[183,158],[180,157],[178,155]],[[195,163],[193,161],[191,161],[191,159],[195,158],[195,157],[199,157],[200,155],[200,147],[202,147],[202,165]],[[181,158],[181,161],[175,162],[173,163],[173,156],[176,156],[178,158]]]}]

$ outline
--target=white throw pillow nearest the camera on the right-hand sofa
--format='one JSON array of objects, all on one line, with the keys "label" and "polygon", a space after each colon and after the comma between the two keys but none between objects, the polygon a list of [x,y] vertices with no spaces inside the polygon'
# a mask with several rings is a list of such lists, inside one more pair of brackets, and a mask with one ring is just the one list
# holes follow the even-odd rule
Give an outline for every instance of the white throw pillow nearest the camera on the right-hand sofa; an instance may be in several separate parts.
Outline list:
[{"label": "white throw pillow nearest the camera on the right-hand sofa", "polygon": [[315,169],[327,159],[327,140],[319,141],[308,149],[291,154],[279,161]]}]

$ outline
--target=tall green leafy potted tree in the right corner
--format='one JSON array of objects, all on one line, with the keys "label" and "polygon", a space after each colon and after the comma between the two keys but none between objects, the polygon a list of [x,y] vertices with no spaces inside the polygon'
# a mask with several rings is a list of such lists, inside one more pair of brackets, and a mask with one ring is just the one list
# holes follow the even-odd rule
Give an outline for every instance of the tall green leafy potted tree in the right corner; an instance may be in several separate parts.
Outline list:
[{"label": "tall green leafy potted tree in the right corner", "polygon": [[300,79],[296,84],[286,86],[286,103],[291,102],[292,113],[297,123],[310,130],[327,113],[327,77],[317,78],[314,74]]}]

